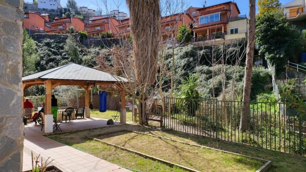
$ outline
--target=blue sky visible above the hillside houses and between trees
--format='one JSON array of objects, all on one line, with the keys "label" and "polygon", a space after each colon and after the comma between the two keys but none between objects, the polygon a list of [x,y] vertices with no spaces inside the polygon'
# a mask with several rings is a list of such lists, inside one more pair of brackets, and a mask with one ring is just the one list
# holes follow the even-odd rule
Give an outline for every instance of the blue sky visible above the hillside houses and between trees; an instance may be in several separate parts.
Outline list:
[{"label": "blue sky visible above the hillside houses and between trees", "polygon": [[[107,10],[105,8],[105,5],[103,4],[104,1],[107,2],[108,11],[111,11],[113,9],[118,9],[115,4],[121,4],[119,6],[119,10],[129,14],[129,10],[126,6],[125,0],[76,0],[76,3],[78,6],[87,6],[89,9],[97,9],[99,6],[104,11],[104,13],[106,13]],[[206,6],[211,6],[211,5],[215,5],[215,4],[219,4],[219,3],[227,2],[227,1],[230,1],[230,0],[206,0]],[[248,0],[232,0],[232,1],[237,3],[241,14],[248,15]],[[282,4],[286,4],[293,0],[279,0],[279,1]],[[188,6],[193,6],[193,7],[203,7],[204,2],[205,0],[186,0],[186,4],[188,4]],[[66,3],[67,3],[67,0],[61,0],[62,7],[65,7]],[[256,4],[257,4],[257,0],[256,0]],[[257,5],[256,5],[256,13],[257,13]]]}]

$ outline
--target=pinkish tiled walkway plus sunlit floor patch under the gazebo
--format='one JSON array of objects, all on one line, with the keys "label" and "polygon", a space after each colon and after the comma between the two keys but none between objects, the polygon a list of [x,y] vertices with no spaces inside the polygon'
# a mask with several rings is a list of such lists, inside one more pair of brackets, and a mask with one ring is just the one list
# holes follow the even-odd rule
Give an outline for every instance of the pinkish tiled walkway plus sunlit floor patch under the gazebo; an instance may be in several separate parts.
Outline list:
[{"label": "pinkish tiled walkway plus sunlit floor patch under the gazebo", "polygon": [[[106,120],[100,118],[73,120],[73,122],[64,122],[60,125],[63,132],[104,126],[106,126]],[[51,165],[63,172],[129,172],[118,165],[47,138],[39,133],[40,129],[41,125],[35,126],[34,123],[29,123],[24,128],[24,171],[32,168],[31,151],[33,151],[34,156],[40,154],[45,160],[48,157],[54,159]]]}]

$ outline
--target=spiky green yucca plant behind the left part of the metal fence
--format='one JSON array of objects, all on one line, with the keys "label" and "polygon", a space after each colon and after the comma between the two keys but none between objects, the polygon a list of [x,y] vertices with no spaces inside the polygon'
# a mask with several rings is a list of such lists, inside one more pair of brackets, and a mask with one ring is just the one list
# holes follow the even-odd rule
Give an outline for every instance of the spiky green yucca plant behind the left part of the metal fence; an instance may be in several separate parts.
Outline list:
[{"label": "spiky green yucca plant behind the left part of the metal fence", "polygon": [[179,87],[181,94],[177,101],[177,108],[188,115],[195,116],[196,111],[200,108],[200,102],[202,99],[201,94],[197,91],[199,85],[197,75],[189,75],[186,80],[182,82]]}]

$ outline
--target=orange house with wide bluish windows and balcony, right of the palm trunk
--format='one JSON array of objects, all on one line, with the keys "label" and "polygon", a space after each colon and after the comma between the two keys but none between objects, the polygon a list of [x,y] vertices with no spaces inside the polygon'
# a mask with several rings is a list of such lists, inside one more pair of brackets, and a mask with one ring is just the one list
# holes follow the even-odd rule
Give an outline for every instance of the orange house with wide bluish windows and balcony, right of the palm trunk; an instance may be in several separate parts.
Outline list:
[{"label": "orange house with wide bluish windows and balcony, right of the palm trunk", "polygon": [[[213,6],[196,9],[199,14],[196,17],[196,26],[192,29],[194,37],[203,40],[225,38],[227,26],[232,17],[240,14],[235,2],[224,2]],[[233,32],[238,29],[235,28]],[[197,35],[196,35],[197,34]]]}]

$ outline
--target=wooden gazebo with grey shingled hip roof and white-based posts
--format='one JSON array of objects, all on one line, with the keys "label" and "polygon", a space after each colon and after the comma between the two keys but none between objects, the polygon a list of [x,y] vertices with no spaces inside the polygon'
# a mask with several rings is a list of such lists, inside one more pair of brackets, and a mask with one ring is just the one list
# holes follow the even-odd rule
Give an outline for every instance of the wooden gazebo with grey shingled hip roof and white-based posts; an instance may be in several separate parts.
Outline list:
[{"label": "wooden gazebo with grey shingled hip roof and white-based posts", "polygon": [[125,90],[122,84],[128,80],[106,73],[94,68],[89,68],[75,63],[59,66],[43,72],[35,73],[22,77],[23,89],[32,85],[44,85],[46,87],[45,95],[45,133],[52,133],[53,118],[51,115],[51,90],[58,85],[78,85],[82,87],[85,93],[85,117],[90,118],[90,89],[93,85],[110,85],[114,84],[121,89],[121,112],[120,123],[126,122],[125,110]]}]

